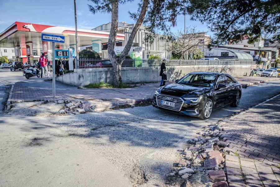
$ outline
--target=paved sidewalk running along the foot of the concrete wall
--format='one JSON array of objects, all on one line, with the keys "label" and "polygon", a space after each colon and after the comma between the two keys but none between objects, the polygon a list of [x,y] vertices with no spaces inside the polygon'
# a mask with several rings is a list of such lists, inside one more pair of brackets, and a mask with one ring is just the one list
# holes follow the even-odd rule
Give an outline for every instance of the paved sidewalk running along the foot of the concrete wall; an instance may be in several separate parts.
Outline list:
[{"label": "paved sidewalk running along the foot of the concrete wall", "polygon": [[[252,84],[263,80],[273,81],[279,78],[267,77],[239,77],[236,78],[241,84]],[[170,83],[170,82],[169,82]],[[168,84],[168,83],[167,83]],[[32,84],[30,85],[32,86]],[[101,99],[103,101],[117,100],[124,98],[144,98],[151,97],[155,90],[159,87],[159,83],[148,83],[145,85],[138,84],[138,87],[127,89],[56,89],[56,98],[73,98],[94,100]],[[14,85],[12,91],[11,102],[34,101],[34,100],[48,100],[52,99],[52,89],[44,88],[30,88]]]}]

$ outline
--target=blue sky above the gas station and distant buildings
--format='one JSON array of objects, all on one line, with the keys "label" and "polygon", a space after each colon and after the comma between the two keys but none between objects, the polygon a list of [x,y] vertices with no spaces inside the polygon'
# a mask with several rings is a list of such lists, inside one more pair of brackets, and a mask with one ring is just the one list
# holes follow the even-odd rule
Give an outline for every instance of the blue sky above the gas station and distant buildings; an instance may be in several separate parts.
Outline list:
[{"label": "blue sky above the gas station and distant buildings", "polygon": [[[119,6],[119,22],[134,23],[128,10],[136,12],[137,0]],[[89,0],[76,0],[77,27],[89,29],[111,21],[110,13],[93,15],[88,8]],[[14,22],[27,22],[75,28],[74,0],[0,0],[0,33]],[[186,26],[196,26],[197,31],[208,31],[207,26],[186,18]],[[177,17],[177,26],[172,31],[184,29],[184,16]],[[209,33],[208,33],[209,34]],[[210,33],[211,35],[211,33]]]}]

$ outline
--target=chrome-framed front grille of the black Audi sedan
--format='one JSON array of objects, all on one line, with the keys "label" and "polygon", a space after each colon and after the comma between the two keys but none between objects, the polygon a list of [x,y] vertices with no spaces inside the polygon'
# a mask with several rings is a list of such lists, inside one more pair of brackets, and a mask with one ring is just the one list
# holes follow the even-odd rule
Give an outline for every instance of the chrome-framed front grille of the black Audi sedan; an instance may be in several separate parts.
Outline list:
[{"label": "chrome-framed front grille of the black Audi sedan", "polygon": [[[161,101],[168,101],[175,103],[175,107],[163,105],[161,104]],[[174,97],[171,95],[164,95],[164,94],[158,94],[156,96],[156,104],[158,107],[174,110],[174,111],[180,111],[183,106],[183,100],[180,97]]]}]

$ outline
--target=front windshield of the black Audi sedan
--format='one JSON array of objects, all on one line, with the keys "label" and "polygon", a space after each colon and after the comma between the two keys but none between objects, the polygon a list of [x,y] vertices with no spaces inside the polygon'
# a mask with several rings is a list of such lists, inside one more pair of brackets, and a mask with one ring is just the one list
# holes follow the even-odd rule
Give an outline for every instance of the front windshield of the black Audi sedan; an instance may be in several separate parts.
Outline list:
[{"label": "front windshield of the black Audi sedan", "polygon": [[178,83],[213,88],[217,75],[188,74]]}]

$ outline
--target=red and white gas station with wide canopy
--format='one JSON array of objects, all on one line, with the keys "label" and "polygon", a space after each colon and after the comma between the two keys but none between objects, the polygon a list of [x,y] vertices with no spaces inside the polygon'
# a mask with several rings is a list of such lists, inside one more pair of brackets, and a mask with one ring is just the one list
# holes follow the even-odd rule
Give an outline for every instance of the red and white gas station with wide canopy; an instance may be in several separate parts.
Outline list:
[{"label": "red and white gas station with wide canopy", "polygon": [[[33,63],[44,53],[51,59],[52,46],[50,42],[41,41],[41,34],[65,36],[65,43],[55,43],[57,49],[72,49],[73,57],[76,51],[75,29],[62,26],[39,25],[33,23],[15,22],[0,33],[0,47],[15,48],[16,59]],[[109,32],[77,29],[78,50],[81,46],[92,46],[92,50],[102,57],[101,43],[108,42]],[[124,34],[117,34],[116,41],[123,41]]]}]

